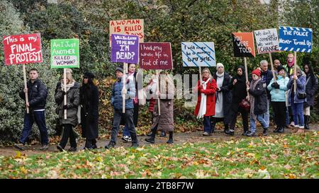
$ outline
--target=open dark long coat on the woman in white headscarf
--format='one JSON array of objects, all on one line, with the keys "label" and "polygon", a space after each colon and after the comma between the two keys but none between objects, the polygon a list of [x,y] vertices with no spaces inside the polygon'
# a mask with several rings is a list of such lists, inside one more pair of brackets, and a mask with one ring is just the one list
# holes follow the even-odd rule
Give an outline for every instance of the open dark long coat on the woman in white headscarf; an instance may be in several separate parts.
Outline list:
[{"label": "open dark long coat on the woman in white headscarf", "polygon": [[[216,74],[214,74],[215,81],[217,80]],[[229,123],[230,120],[228,120],[228,114],[230,112],[230,107],[232,103],[232,92],[229,89],[229,85],[231,81],[231,76],[228,73],[224,73],[224,80],[223,80],[223,86],[220,87],[220,92],[223,93],[223,109],[224,109],[224,119],[226,123]]]}]

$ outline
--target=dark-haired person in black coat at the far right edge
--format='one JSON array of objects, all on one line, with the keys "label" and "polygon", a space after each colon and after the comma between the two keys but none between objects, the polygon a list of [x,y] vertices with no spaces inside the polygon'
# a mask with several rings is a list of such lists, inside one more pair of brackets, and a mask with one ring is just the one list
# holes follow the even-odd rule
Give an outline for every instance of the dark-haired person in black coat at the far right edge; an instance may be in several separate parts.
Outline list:
[{"label": "dark-haired person in black coat at the far right edge", "polygon": [[318,78],[313,74],[313,67],[306,62],[303,64],[303,69],[306,73],[306,94],[307,101],[303,103],[304,107],[304,119],[305,119],[305,129],[309,129],[309,119],[310,119],[310,107],[313,107],[315,100],[315,92],[318,88]]}]

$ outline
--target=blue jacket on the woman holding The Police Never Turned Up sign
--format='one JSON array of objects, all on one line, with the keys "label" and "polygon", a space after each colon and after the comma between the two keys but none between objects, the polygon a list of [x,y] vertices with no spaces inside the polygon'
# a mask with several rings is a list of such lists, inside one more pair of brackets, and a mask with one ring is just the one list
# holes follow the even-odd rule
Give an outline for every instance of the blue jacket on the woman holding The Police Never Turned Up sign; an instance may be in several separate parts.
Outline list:
[{"label": "blue jacket on the woman holding The Police Never Turned Up sign", "polygon": [[[293,96],[294,97],[294,103],[304,103],[304,102],[306,102],[305,99],[299,99],[297,97],[297,93],[305,92],[305,83],[306,83],[306,76],[305,75],[298,76],[298,79],[296,81],[296,84],[297,84],[296,93]],[[290,89],[289,90],[288,103],[289,103],[289,105],[291,105],[291,91],[293,90],[293,76],[290,76],[289,82],[287,84],[287,88]]]}]

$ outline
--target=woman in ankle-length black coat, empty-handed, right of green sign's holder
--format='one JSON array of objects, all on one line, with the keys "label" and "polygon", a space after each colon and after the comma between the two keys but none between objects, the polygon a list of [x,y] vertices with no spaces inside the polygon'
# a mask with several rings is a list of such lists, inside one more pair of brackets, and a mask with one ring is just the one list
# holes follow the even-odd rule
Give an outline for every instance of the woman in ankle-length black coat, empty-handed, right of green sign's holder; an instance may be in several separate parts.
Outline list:
[{"label": "woman in ankle-length black coat, empty-handed, right of green sign's holder", "polygon": [[94,74],[84,73],[80,87],[82,137],[84,148],[94,149],[99,136],[99,89],[93,83]]}]

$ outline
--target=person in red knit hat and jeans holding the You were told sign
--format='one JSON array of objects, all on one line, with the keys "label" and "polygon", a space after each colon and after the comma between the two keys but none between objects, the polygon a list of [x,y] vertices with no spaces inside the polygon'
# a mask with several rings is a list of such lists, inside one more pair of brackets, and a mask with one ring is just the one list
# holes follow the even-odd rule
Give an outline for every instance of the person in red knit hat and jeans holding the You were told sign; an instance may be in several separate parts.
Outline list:
[{"label": "person in red knit hat and jeans holding the You were told sign", "polygon": [[267,112],[267,93],[263,86],[261,72],[259,69],[252,71],[252,81],[247,82],[247,91],[250,93],[250,133],[246,136],[254,136],[256,134],[257,120],[262,124],[264,136],[267,136],[269,123],[264,118]]}]

